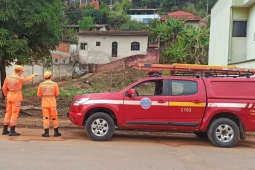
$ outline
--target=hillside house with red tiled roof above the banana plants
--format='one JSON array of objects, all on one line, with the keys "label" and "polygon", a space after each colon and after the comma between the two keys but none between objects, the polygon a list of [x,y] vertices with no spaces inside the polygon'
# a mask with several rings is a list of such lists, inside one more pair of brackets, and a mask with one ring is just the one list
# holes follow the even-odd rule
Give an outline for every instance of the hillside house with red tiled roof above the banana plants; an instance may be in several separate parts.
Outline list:
[{"label": "hillside house with red tiled roof above the banana plants", "polygon": [[185,20],[185,25],[193,25],[195,27],[197,27],[202,20],[200,16],[183,10],[168,12],[167,15],[161,16],[161,21],[165,22],[168,18]]}]

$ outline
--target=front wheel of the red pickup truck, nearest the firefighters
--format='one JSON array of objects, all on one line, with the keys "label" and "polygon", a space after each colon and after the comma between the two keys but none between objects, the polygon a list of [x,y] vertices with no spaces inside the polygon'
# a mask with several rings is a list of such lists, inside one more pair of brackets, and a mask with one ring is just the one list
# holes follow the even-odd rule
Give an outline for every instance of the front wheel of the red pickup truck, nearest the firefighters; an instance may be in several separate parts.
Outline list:
[{"label": "front wheel of the red pickup truck, nearest the firefighters", "polygon": [[88,118],[85,130],[90,139],[106,141],[112,137],[114,127],[113,119],[109,115],[98,112]]}]

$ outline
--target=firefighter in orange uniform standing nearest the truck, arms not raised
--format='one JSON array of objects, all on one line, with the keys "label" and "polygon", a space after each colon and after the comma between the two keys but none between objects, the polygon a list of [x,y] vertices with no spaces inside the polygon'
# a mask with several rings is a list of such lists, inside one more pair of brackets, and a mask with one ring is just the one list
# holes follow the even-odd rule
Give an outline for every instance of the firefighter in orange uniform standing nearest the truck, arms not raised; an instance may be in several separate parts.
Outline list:
[{"label": "firefighter in orange uniform standing nearest the truck, arms not raised", "polygon": [[57,83],[51,81],[51,73],[45,72],[45,82],[41,83],[38,87],[37,96],[42,97],[42,112],[43,112],[43,127],[45,133],[42,137],[49,137],[50,119],[54,128],[54,137],[61,136],[58,132],[58,114],[56,97],[59,95]]}]

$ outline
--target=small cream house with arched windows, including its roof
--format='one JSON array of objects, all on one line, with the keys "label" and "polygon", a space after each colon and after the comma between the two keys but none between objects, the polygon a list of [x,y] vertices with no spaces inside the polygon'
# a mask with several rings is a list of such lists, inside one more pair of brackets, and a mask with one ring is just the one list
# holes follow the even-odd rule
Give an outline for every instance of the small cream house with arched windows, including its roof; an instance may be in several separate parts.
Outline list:
[{"label": "small cream house with arched windows, including its roof", "polygon": [[79,61],[106,64],[132,55],[146,55],[147,31],[84,31],[78,33]]}]

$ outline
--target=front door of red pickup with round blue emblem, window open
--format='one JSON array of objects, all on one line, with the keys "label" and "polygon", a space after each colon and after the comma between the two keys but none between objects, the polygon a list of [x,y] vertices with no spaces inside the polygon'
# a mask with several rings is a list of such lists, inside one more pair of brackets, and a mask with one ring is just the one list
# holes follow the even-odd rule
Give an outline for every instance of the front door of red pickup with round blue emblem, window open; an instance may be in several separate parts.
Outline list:
[{"label": "front door of red pickup with round blue emblem, window open", "polygon": [[168,124],[168,80],[155,79],[132,87],[135,96],[124,96],[124,122],[130,125]]}]

